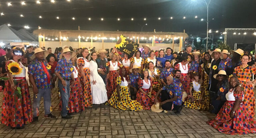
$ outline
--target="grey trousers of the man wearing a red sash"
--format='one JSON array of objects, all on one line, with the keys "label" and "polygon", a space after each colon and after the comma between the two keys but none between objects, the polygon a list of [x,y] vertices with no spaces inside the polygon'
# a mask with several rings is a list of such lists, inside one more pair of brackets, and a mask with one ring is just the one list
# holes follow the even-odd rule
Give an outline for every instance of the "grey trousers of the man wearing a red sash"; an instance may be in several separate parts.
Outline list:
[{"label": "grey trousers of the man wearing a red sash", "polygon": [[[37,112],[39,112],[39,106],[41,98],[44,98],[44,114],[48,115],[50,114],[50,107],[51,107],[51,88],[46,89],[38,89],[37,98],[36,94],[34,94],[33,99],[33,117],[37,117]],[[38,111],[37,111],[37,110]]]}]

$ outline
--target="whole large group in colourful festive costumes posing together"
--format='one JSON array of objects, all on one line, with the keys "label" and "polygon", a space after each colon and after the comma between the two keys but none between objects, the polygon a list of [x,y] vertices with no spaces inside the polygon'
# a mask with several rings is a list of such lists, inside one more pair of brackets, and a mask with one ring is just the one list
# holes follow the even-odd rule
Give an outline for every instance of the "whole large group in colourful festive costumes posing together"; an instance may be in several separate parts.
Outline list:
[{"label": "whole large group in colourful festive costumes posing together", "polygon": [[[177,115],[185,107],[216,114],[207,123],[222,133],[256,133],[256,62],[252,54],[218,48],[192,52],[191,45],[179,52],[169,47],[159,51],[151,50],[149,45],[142,47],[143,51],[131,57],[116,48],[96,51],[95,47],[63,46],[54,53],[50,47],[0,49],[0,55],[7,58],[1,63],[0,76],[9,77],[6,83],[0,83],[4,94],[2,124],[22,129],[38,121],[42,97],[44,117],[56,118],[52,114],[51,89],[57,85],[63,119],[71,119],[72,114],[93,104],[108,104],[119,110],[174,111]],[[10,71],[14,63],[22,69],[19,75]],[[26,67],[33,87],[33,105]],[[21,88],[20,98],[14,97],[16,86]]]}]

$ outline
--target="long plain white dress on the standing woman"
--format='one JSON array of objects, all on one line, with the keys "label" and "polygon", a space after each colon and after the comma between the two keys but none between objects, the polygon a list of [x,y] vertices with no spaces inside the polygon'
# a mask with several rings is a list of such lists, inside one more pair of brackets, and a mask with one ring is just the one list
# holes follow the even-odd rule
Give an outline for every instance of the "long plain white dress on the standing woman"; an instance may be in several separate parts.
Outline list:
[{"label": "long plain white dress on the standing woman", "polygon": [[[98,65],[95,61],[90,61],[90,80],[91,80],[91,90],[92,90],[92,103],[101,104],[105,103],[108,100],[107,90],[105,83],[101,76],[98,74]],[[92,81],[96,81],[96,84],[93,85]]]}]

